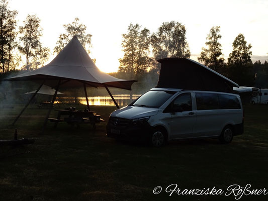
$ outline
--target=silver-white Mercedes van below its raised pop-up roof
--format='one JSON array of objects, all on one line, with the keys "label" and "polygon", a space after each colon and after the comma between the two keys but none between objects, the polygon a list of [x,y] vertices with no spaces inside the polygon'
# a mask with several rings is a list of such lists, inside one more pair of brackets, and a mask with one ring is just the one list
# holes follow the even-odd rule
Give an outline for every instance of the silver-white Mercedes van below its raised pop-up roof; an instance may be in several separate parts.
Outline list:
[{"label": "silver-white Mercedes van below its raised pop-up roof", "polygon": [[162,146],[170,140],[219,138],[230,143],[243,133],[240,96],[233,93],[152,88],[114,111],[107,136],[146,140]]}]

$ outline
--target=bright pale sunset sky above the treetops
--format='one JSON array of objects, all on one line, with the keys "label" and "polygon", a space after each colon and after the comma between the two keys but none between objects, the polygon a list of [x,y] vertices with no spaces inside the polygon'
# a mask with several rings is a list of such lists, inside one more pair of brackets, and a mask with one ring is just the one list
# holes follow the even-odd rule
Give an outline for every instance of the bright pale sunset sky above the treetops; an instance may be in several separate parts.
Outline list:
[{"label": "bright pale sunset sky above the treetops", "polygon": [[[41,19],[45,47],[53,49],[63,24],[75,17],[86,25],[87,33],[93,35],[91,58],[104,72],[115,72],[118,59],[123,56],[122,34],[130,23],[156,32],[162,22],[178,21],[186,26],[191,58],[197,60],[205,46],[207,34],[213,26],[221,27],[222,52],[227,59],[232,52],[235,37],[242,33],[251,43],[252,62],[268,61],[268,1],[69,1],[69,0],[10,0],[11,10],[17,10],[18,25],[28,14]],[[55,57],[51,55],[50,61]]]}]

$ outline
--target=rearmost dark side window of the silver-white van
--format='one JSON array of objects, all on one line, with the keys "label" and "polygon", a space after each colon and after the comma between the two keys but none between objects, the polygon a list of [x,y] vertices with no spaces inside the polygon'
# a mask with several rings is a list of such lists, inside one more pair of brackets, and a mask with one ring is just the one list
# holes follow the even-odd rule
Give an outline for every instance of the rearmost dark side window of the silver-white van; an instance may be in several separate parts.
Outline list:
[{"label": "rearmost dark side window of the silver-white van", "polygon": [[239,100],[234,95],[218,94],[220,109],[241,109]]}]

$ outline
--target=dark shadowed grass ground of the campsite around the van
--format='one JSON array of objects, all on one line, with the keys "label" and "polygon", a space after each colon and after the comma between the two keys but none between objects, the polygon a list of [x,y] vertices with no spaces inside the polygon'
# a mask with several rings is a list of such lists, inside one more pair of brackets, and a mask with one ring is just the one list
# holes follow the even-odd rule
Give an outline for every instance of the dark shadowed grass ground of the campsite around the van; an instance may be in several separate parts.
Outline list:
[{"label": "dark shadowed grass ground of the campsite around the van", "polygon": [[[235,200],[233,194],[169,196],[165,188],[222,189],[239,184],[268,188],[268,106],[245,106],[244,134],[231,144],[215,139],[172,142],[162,148],[117,142],[106,137],[106,122],[94,132],[48,122],[47,110],[30,106],[16,126],[10,126],[22,106],[1,109],[0,139],[36,138],[33,145],[0,147],[1,200]],[[77,106],[79,108],[79,106]],[[80,106],[82,109],[83,106]],[[115,107],[93,107],[107,121]],[[51,116],[56,116],[52,112]],[[29,151],[29,153],[27,153]],[[156,186],[162,192],[153,194]],[[266,200],[243,195],[240,200]]]}]

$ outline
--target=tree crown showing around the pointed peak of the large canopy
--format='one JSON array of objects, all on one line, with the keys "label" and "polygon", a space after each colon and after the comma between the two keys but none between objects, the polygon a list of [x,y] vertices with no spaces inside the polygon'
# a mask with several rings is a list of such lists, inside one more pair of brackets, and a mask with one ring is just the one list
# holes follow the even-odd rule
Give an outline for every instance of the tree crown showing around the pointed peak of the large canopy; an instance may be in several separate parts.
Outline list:
[{"label": "tree crown showing around the pointed peak of the large canopy", "polygon": [[59,35],[56,47],[54,48],[54,53],[58,54],[69,43],[72,37],[76,36],[86,52],[90,54],[92,35],[86,34],[86,26],[80,24],[79,19],[75,18],[71,24],[63,25],[63,27],[66,33]]}]

